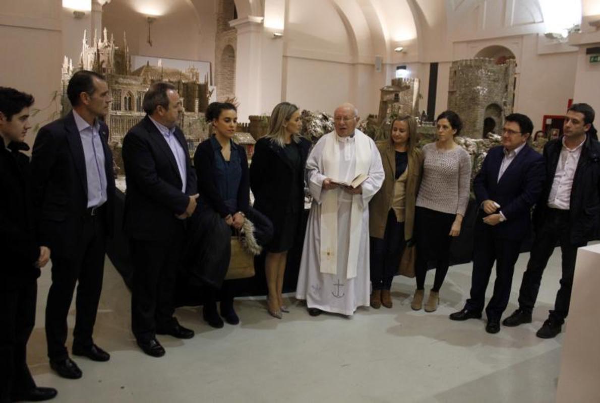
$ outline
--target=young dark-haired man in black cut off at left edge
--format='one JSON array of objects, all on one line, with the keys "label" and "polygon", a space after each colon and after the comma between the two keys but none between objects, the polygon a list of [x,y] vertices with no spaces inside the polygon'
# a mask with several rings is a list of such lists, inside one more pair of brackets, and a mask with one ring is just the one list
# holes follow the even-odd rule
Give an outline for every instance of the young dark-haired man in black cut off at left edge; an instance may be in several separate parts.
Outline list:
[{"label": "young dark-haired man in black cut off at left edge", "polygon": [[34,329],[37,278],[50,249],[35,239],[25,135],[34,97],[0,87],[0,403],[42,401],[56,390],[37,387],[27,366]]}]

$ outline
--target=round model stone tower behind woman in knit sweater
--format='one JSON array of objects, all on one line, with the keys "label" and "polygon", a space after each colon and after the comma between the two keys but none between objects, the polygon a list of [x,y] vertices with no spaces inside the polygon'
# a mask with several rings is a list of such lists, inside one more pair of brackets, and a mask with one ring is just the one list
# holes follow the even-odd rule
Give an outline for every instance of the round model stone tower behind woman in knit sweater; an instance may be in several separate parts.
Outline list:
[{"label": "round model stone tower behind woman in knit sweater", "polygon": [[[493,59],[452,62],[448,87],[448,109],[463,120],[463,136],[481,139],[486,130],[500,134],[504,117],[514,104],[515,61],[496,64]],[[490,121],[493,119],[493,122]]]}]

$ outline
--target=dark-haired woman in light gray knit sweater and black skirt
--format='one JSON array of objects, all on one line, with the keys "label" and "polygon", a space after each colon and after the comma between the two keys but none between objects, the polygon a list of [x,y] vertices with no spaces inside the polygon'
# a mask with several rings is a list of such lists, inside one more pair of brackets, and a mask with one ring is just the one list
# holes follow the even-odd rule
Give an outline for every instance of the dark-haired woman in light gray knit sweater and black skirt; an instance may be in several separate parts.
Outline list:
[{"label": "dark-haired woman in light gray knit sweater and black skirt", "polygon": [[448,272],[450,241],[460,234],[464,212],[469,203],[471,158],[454,136],[463,127],[455,112],[446,110],[437,116],[437,141],[422,148],[423,176],[415,209],[416,291],[412,309],[421,309],[424,299],[428,262],[436,267],[425,311],[433,312],[439,302],[439,290]]}]

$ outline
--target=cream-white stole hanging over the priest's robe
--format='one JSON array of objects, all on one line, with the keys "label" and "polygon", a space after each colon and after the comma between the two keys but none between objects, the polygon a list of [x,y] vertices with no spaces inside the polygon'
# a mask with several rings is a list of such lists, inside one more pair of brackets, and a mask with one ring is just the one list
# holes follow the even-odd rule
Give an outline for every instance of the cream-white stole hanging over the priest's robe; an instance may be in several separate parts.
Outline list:
[{"label": "cream-white stole hanging over the priest's robe", "polygon": [[[355,130],[355,172],[353,178],[364,173],[368,175],[371,167],[373,151],[371,142],[366,134]],[[323,175],[327,178],[340,180],[340,145],[335,131],[326,134],[325,147],[323,148]],[[350,213],[350,248],[348,252],[347,278],[356,277],[358,265],[358,252],[361,243],[362,213],[359,205],[362,194],[352,197],[352,210]],[[338,243],[338,192],[325,191],[321,203],[321,245],[320,245],[320,271],[321,273],[337,273],[337,243]]]}]

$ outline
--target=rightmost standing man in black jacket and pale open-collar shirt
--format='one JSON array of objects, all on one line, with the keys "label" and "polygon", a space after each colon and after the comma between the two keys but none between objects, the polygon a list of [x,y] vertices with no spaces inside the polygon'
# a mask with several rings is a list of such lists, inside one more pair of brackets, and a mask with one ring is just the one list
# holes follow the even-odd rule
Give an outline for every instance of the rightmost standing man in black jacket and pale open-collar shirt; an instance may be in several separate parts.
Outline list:
[{"label": "rightmost standing man in black jacket and pale open-collar shirt", "polygon": [[[588,104],[572,104],[563,136],[544,146],[546,180],[533,211],[535,239],[519,291],[519,308],[505,326],[530,323],[542,273],[557,243],[562,253],[562,278],[554,309],[536,335],[553,338],[569,314],[577,248],[598,231],[600,216],[600,144],[590,128],[595,112]],[[588,132],[586,134],[586,132]]]}]

